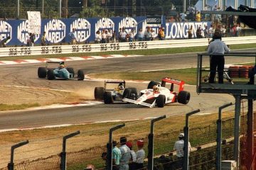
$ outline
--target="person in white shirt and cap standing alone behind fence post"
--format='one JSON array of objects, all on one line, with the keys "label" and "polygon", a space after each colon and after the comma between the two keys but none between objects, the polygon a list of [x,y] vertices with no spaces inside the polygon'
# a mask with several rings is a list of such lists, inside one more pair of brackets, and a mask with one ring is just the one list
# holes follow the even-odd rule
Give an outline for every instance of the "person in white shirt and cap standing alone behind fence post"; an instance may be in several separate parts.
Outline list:
[{"label": "person in white shirt and cap standing alone behind fence post", "polygon": [[[178,135],[178,140],[174,144],[174,150],[176,152],[176,157],[178,161],[176,162],[176,169],[181,169],[183,166],[183,157],[184,157],[184,133]],[[191,152],[191,144],[188,142],[188,156]]]}]

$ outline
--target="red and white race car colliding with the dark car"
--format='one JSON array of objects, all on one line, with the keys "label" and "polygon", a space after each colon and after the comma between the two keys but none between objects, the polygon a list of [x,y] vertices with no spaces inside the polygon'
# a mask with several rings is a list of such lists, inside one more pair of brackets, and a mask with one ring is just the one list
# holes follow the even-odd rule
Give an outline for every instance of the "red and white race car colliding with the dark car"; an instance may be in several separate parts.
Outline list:
[{"label": "red and white race car colliding with the dark car", "polygon": [[[169,89],[166,88],[168,84],[171,86]],[[187,104],[190,100],[190,93],[184,91],[184,84],[184,81],[171,79],[169,77],[163,78],[161,84],[156,81],[150,81],[148,88],[140,91],[140,96],[137,96],[136,100],[123,98],[123,101],[148,106],[150,108],[154,106],[163,108],[165,104],[175,102]],[[177,92],[174,91],[174,85],[178,85],[178,88],[176,88]]]}]

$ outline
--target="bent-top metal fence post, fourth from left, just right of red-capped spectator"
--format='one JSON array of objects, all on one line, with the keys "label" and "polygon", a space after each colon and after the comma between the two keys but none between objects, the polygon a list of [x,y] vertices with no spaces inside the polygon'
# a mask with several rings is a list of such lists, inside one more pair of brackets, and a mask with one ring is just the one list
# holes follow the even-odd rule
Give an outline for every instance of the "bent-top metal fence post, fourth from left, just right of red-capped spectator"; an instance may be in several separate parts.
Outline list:
[{"label": "bent-top metal fence post, fourth from left, just right of red-capped spectator", "polygon": [[150,127],[150,134],[149,134],[149,145],[148,145],[148,169],[153,170],[154,169],[154,123],[166,118],[166,115],[162,115],[159,118],[155,118],[151,120],[151,127]]}]

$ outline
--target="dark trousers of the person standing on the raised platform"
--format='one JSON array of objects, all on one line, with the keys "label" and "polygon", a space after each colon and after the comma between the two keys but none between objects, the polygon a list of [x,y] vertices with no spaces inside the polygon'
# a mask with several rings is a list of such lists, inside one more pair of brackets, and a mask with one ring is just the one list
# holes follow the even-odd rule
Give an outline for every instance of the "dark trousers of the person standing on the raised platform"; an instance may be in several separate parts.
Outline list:
[{"label": "dark trousers of the person standing on the raised platform", "polygon": [[216,74],[216,68],[218,68],[218,83],[223,84],[223,72],[224,72],[224,55],[212,55],[210,57],[210,77],[209,83],[214,83]]}]

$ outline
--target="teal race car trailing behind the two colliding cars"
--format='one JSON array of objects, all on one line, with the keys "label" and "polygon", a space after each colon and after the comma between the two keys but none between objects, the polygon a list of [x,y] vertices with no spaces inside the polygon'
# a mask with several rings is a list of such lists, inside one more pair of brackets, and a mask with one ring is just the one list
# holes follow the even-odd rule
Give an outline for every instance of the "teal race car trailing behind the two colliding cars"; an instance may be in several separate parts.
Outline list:
[{"label": "teal race car trailing behind the two colliding cars", "polygon": [[[58,67],[50,68],[48,65],[50,63],[58,63]],[[64,62],[46,62],[46,67],[38,68],[38,77],[39,78],[47,78],[48,80],[53,79],[75,79],[75,80],[83,80],[85,79],[85,74],[82,72],[82,69],[78,69],[78,74],[75,74],[73,67],[65,67]]]}]

